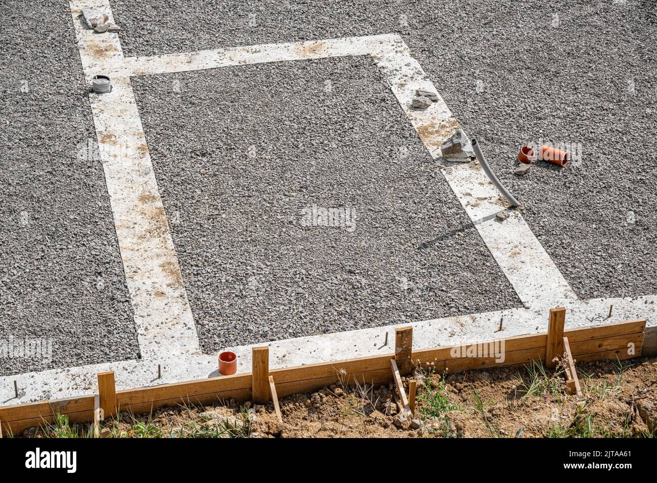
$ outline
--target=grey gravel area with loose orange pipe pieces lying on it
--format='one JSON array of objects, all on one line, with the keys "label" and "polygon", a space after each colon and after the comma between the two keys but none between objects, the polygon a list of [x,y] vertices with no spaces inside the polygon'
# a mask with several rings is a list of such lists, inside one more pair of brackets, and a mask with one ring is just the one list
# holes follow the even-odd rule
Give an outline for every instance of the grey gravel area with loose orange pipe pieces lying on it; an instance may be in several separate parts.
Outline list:
[{"label": "grey gravel area with loose orange pipe pieces lying on it", "polygon": [[[657,293],[657,14],[648,0],[112,0],[125,55],[398,33],[582,298]],[[525,144],[581,157],[512,174]]]}]

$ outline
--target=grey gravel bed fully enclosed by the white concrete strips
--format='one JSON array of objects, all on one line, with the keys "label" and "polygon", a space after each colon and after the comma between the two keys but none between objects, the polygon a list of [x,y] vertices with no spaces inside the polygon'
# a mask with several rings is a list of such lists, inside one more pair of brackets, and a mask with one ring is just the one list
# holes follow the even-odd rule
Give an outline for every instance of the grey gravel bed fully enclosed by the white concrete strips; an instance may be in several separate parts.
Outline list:
[{"label": "grey gravel bed fully enclosed by the white concrete strips", "polygon": [[520,305],[370,57],[133,89],[206,352]]}]

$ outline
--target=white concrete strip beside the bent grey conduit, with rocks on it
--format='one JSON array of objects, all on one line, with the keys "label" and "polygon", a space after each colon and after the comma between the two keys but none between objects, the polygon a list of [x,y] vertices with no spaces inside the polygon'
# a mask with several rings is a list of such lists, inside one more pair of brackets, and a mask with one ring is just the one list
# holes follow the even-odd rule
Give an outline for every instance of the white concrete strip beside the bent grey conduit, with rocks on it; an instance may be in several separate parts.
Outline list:
[{"label": "white concrete strip beside the bent grey conduit, with rocks on it", "polygon": [[[428,80],[417,60],[411,57],[406,45],[400,47],[396,42],[388,51],[373,57],[386,74],[390,88],[426,149],[434,159],[442,162],[440,146],[461,126],[438,89]],[[425,110],[413,108],[415,89],[438,94],[438,102]],[[506,221],[495,219],[495,214],[509,209],[510,204],[501,197],[481,166],[477,162],[451,164],[453,166],[442,168],[447,183],[524,306],[558,306],[564,304],[564,300],[576,299],[576,294],[518,210],[509,211],[511,216]]]}]

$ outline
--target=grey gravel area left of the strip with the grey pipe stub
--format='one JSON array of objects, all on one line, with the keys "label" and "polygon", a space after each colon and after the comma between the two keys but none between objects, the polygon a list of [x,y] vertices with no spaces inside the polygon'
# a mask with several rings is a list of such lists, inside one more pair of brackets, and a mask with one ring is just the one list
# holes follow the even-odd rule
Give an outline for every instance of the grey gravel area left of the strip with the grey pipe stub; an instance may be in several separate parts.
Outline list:
[{"label": "grey gravel area left of the strip with the grey pipe stub", "polygon": [[[7,0],[0,26],[0,375],[134,359],[68,3]],[[43,357],[20,352],[23,339],[43,339]],[[28,357],[3,357],[14,342]]]}]

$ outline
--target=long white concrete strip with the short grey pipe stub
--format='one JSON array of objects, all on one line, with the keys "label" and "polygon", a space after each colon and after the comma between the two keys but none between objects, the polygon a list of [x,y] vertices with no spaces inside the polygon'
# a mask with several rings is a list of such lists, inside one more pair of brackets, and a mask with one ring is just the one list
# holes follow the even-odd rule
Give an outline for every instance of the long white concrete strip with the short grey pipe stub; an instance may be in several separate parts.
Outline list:
[{"label": "long white concrete strip with the short grey pipe stub", "polygon": [[196,326],[158,191],[130,78],[116,34],[95,34],[80,9],[108,13],[103,0],[73,0],[71,10],[87,80],[112,79],[112,92],[89,94],[139,350],[143,359],[199,352]]}]

